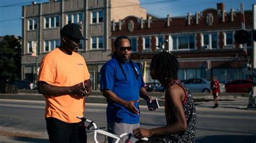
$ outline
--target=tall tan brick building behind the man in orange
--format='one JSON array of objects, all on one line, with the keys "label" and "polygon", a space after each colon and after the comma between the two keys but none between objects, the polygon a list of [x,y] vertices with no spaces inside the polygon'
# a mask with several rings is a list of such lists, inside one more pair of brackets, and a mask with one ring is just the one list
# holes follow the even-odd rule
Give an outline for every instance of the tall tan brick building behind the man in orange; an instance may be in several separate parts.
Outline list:
[{"label": "tall tan brick building behind the man in orange", "polygon": [[24,5],[22,80],[36,81],[43,56],[60,44],[60,29],[68,23],[77,23],[89,39],[82,41],[78,53],[86,60],[92,89],[98,89],[99,70],[111,58],[111,22],[129,15],[146,18],[139,0],[49,0]]}]

